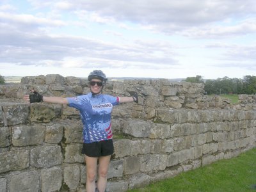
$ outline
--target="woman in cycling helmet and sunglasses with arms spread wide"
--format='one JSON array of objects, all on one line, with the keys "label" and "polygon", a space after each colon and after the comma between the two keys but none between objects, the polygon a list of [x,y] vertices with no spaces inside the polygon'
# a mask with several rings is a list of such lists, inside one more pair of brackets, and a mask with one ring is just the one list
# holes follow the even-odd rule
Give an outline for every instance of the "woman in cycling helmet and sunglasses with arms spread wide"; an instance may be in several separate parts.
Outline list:
[{"label": "woman in cycling helmet and sunglasses with arms spread wide", "polygon": [[[113,97],[102,94],[106,84],[106,75],[101,70],[93,70],[88,76],[91,92],[77,97],[46,97],[32,91],[32,95],[25,95],[27,102],[49,102],[54,104],[68,104],[80,111],[83,122],[83,148],[86,163],[86,191],[103,192],[106,189],[107,173],[111,154],[114,152],[111,111],[113,106],[123,102],[138,103],[138,94],[133,97]],[[97,163],[99,161],[99,175],[97,188],[95,179]]]}]

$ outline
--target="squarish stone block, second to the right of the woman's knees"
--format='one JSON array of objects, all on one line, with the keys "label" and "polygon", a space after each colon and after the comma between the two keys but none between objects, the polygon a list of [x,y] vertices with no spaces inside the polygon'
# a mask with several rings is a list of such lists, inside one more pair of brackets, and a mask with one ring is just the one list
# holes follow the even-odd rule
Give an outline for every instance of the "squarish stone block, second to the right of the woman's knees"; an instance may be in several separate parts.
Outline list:
[{"label": "squarish stone block, second to the right of the woman's knees", "polygon": [[125,157],[124,159],[124,174],[131,175],[140,172],[139,157]]}]

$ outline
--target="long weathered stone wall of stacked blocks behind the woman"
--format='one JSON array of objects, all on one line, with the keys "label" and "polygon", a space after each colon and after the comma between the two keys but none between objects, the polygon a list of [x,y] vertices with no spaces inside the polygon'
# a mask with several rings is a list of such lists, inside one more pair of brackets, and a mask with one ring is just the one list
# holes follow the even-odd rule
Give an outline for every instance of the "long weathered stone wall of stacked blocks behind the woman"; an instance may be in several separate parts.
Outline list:
[{"label": "long weathered stone wall of stacked blocks behind the woman", "polygon": [[[59,75],[0,86],[0,191],[84,191],[79,113],[66,105],[26,104],[22,97],[32,87],[61,97],[89,92],[86,80]],[[113,110],[108,191],[145,186],[255,147],[253,95],[240,96],[233,106],[204,95],[203,84],[159,79],[109,81],[104,87],[111,95],[134,92],[138,104]]]}]

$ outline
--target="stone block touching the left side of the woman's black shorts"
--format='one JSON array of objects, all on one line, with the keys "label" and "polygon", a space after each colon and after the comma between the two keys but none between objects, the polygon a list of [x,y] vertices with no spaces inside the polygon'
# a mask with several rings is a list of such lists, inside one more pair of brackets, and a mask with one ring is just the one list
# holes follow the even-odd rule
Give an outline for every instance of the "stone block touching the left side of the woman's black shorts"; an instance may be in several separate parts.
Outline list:
[{"label": "stone block touching the left side of the woman's black shorts", "polygon": [[84,163],[82,143],[70,144],[65,147],[65,163]]}]

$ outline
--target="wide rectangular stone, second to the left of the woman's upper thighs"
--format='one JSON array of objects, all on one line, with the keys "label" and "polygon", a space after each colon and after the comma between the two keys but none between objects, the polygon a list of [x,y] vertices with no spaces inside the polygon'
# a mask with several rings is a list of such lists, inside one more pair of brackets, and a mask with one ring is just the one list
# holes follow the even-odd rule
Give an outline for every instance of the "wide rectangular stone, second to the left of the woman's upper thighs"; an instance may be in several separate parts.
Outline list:
[{"label": "wide rectangular stone, second to the left of the woman's upper thighs", "polygon": [[45,145],[35,147],[30,152],[30,164],[36,168],[49,168],[62,163],[61,147]]}]

